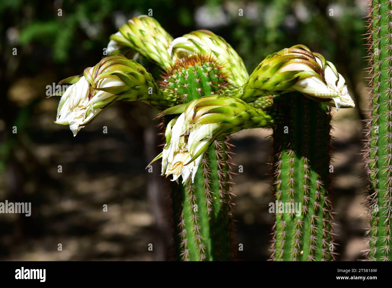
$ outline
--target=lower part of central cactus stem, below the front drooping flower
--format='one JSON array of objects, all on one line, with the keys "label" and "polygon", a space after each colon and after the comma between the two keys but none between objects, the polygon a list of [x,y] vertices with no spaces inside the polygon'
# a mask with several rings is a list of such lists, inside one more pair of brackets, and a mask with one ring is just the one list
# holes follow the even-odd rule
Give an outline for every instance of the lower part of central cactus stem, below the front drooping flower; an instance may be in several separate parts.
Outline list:
[{"label": "lower part of central cactus stem, below the front drooping flower", "polygon": [[181,260],[229,260],[234,257],[234,221],[230,146],[215,140],[203,155],[194,182],[174,185],[176,247]]}]

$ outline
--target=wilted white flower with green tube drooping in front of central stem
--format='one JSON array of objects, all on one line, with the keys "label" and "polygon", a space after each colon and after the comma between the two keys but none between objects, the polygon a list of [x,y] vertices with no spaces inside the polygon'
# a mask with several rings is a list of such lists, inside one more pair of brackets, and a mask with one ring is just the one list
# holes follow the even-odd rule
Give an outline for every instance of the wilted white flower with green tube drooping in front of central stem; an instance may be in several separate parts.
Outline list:
[{"label": "wilted white flower with green tube drooping in front of central stem", "polygon": [[265,112],[235,97],[200,97],[157,117],[176,113],[181,115],[167,125],[166,145],[152,162],[162,158],[162,175],[173,175],[172,181],[182,176],[183,183],[189,178],[193,182],[203,153],[217,137],[273,123]]}]

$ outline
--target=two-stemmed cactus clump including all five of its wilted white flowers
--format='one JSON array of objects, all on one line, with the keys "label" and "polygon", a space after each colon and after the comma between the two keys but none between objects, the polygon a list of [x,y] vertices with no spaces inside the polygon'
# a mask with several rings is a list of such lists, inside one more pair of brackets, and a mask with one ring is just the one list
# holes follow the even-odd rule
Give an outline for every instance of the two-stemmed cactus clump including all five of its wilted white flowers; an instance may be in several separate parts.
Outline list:
[{"label": "two-stemmed cactus clump including all five of its wilted white flowers", "polygon": [[[76,135],[117,100],[163,110],[157,116],[167,120],[166,143],[153,161],[162,158],[162,175],[177,182],[171,191],[174,259],[237,257],[229,135],[252,128],[274,130],[276,200],[302,205],[298,215],[276,214],[271,259],[331,259],[326,105],[354,107],[332,63],[295,45],[267,56],[249,76],[220,36],[199,30],[173,39],[148,16],[120,27],[107,49],[112,56],[61,82],[71,86],[60,99],[56,123],[69,124]],[[158,64],[162,79],[153,79],[138,57]]]}]

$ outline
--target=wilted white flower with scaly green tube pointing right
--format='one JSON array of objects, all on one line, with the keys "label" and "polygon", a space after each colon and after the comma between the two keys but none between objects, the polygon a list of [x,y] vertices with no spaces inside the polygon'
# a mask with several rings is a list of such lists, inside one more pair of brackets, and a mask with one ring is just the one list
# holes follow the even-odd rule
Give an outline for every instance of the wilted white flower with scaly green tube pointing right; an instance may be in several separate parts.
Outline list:
[{"label": "wilted white flower with scaly green tube pointing right", "polygon": [[295,45],[267,56],[250,75],[239,97],[251,102],[261,96],[290,91],[301,92],[336,110],[355,106],[345,79],[335,66],[305,45]]}]

